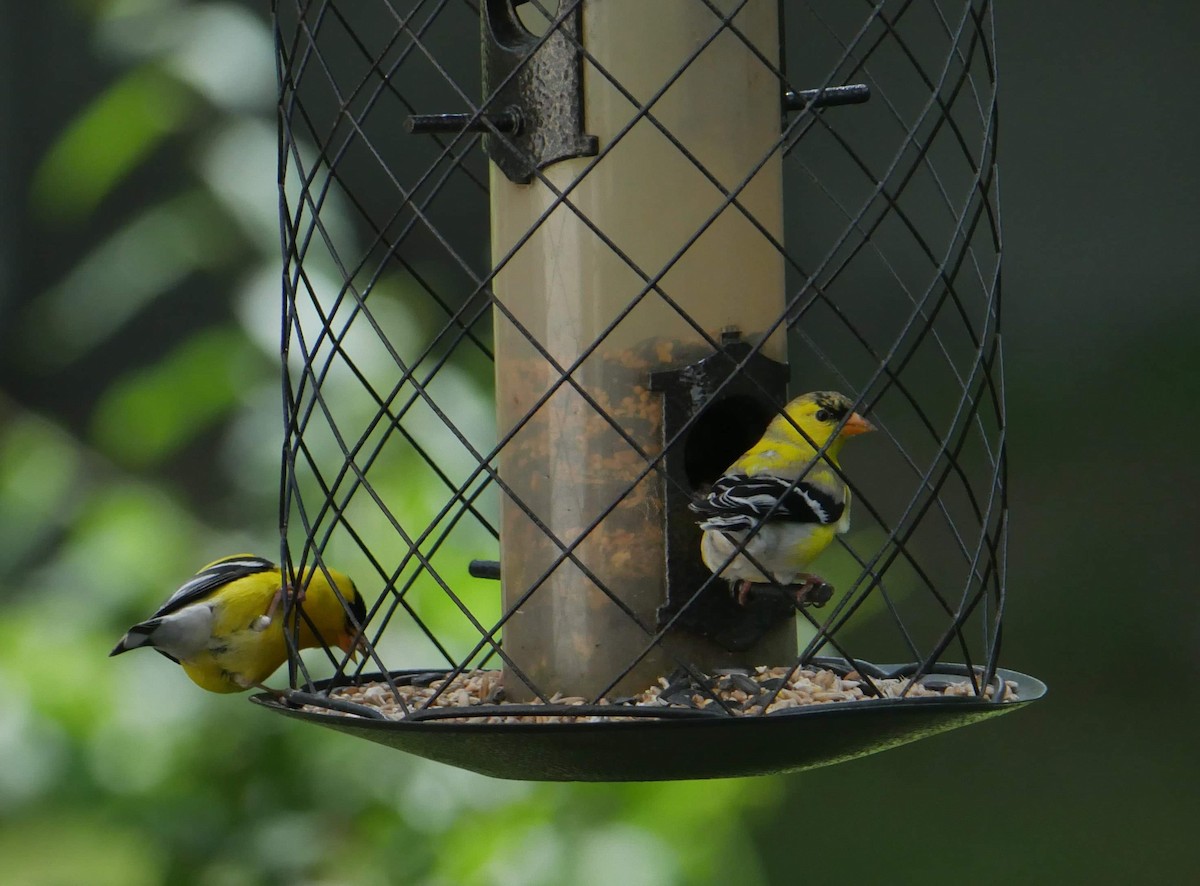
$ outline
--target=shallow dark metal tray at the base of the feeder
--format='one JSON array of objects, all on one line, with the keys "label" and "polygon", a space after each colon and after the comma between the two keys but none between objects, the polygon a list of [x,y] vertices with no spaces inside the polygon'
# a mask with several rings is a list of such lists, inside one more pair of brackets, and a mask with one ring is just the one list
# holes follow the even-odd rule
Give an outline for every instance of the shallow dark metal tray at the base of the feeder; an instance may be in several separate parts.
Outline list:
[{"label": "shallow dark metal tray at the base of the feeder", "polygon": [[[845,674],[838,659],[814,665]],[[872,670],[877,681],[905,680],[917,665]],[[450,674],[440,672],[440,677]],[[426,682],[430,671],[394,671],[397,686]],[[938,665],[925,686],[949,686],[967,678],[965,668]],[[383,680],[368,675],[364,682]],[[1007,687],[1018,687],[1015,698]],[[493,778],[546,782],[658,782],[799,772],[866,756],[918,738],[1016,711],[1045,694],[1045,684],[1025,674],[996,671],[998,701],[978,695],[925,695],[830,701],[761,716],[666,705],[498,705],[439,706],[412,719],[388,719],[366,705],[337,702],[328,708],[334,681],[317,683],[319,694],[268,694],[256,704],[296,719],[472,770]],[[390,695],[390,690],[389,690]],[[995,698],[995,694],[994,694]],[[350,713],[358,708],[359,716]],[[484,723],[493,717],[510,722]],[[516,718],[570,717],[576,720],[533,723]],[[452,720],[452,722],[446,722]],[[598,722],[602,720],[602,722]]]}]

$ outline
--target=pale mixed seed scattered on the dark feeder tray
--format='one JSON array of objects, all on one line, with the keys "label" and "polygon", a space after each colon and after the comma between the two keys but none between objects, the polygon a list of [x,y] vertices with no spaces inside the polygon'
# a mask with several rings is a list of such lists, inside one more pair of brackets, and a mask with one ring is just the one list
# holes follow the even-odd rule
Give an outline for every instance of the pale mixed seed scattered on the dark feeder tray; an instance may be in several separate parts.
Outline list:
[{"label": "pale mixed seed scattered on the dark feeder tray", "polygon": [[[709,680],[709,687],[716,696],[719,696],[734,714],[760,714],[762,713],[762,705],[770,700],[772,689],[764,687],[763,683],[770,681],[779,681],[785,677],[791,670],[790,668],[766,668],[758,666],[752,671],[746,669],[740,672],[732,674],[719,674]],[[410,710],[416,710],[427,701],[434,692],[442,688],[444,678],[433,680],[427,686],[397,686],[396,690],[403,698],[404,704],[408,705]],[[758,689],[756,694],[751,695],[748,692],[750,682],[754,682]],[[786,686],[779,689],[778,695],[770,701],[767,707],[767,713],[774,713],[776,711],[786,711],[788,708],[803,707],[808,705],[828,705],[836,704],[839,701],[872,701],[876,699],[898,699],[901,698],[900,693],[907,684],[907,678],[900,677],[895,680],[875,680],[875,686],[880,690],[880,695],[868,695],[863,692],[865,681],[859,680],[854,671],[851,671],[846,676],[839,676],[835,671],[821,669],[811,670],[808,668],[797,669],[792,675],[792,678]],[[667,701],[664,698],[664,693],[671,689],[671,695],[678,699],[684,695],[689,699],[691,704],[676,704]],[[450,686],[445,688],[444,692],[433,702],[433,707],[470,707],[481,704],[494,704],[494,700],[500,692],[500,671],[498,670],[474,670],[467,671],[464,674],[455,677]],[[973,696],[971,682],[967,680],[947,683],[946,686],[930,687],[923,683],[916,683],[908,690],[907,695],[904,698],[910,699],[922,699],[922,698],[940,698],[940,696]],[[995,687],[988,686],[984,688],[984,698],[991,699],[995,695]],[[350,701],[359,705],[366,705],[378,710],[384,717],[391,720],[404,719],[403,708],[396,702],[392,695],[391,688],[386,683],[374,682],[364,683],[362,686],[342,687],[334,690],[334,696],[343,701]],[[492,701],[488,701],[492,700]],[[1016,701],[1016,684],[1013,681],[1008,681],[1004,684],[1004,701]],[[584,705],[587,699],[580,696],[563,696],[559,694],[552,695],[550,702],[553,705]],[[510,704],[500,700],[500,705]],[[533,705],[542,704],[540,700],[534,700],[528,702]],[[610,704],[607,700],[600,701],[601,705]],[[626,700],[624,702],[629,705]],[[695,684],[680,684],[672,687],[666,677],[659,677],[658,684],[646,689],[644,692],[635,695],[631,702],[638,708],[647,707],[673,707],[677,710],[716,710],[716,702],[704,693],[700,687]],[[320,707],[318,705],[305,705],[304,711],[310,713],[320,714],[332,714],[336,717],[355,717],[356,714],[344,713],[341,711],[332,711],[329,708]],[[428,720],[430,723],[473,723],[473,724],[500,724],[500,723],[613,723],[613,722],[629,722],[629,720],[644,720],[646,717],[620,717],[620,716],[604,716],[604,717],[566,717],[562,714],[550,714],[546,717],[536,716],[521,716],[521,717],[456,717]],[[653,718],[649,718],[653,719]]]}]

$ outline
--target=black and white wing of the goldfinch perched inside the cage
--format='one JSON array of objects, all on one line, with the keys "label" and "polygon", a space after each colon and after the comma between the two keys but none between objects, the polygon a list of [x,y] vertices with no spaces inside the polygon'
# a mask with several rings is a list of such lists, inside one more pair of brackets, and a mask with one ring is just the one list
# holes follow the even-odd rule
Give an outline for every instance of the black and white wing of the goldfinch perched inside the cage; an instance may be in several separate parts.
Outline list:
[{"label": "black and white wing of the goldfinch perched inside the cage", "polygon": [[772,522],[835,523],[846,503],[803,480],[793,484],[769,474],[726,474],[690,507],[703,517],[702,529],[737,532],[752,529],[764,517]]}]

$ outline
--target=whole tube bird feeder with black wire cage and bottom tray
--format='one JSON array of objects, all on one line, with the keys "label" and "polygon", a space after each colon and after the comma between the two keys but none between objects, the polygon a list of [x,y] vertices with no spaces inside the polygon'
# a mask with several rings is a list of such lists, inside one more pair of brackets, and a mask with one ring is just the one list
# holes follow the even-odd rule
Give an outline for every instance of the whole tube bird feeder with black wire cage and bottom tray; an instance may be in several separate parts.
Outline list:
[{"label": "whole tube bird feeder with black wire cage and bottom tray", "polygon": [[[264,704],[491,774],[672,778],[1038,698],[998,660],[990,2],[272,6],[284,557],[370,605],[360,661],[293,655]],[[876,429],[845,469],[784,409],[828,390]],[[788,493],[848,487],[820,599],[701,556],[689,505],[772,421],[815,444]],[[775,750],[730,754],[751,731]]]}]

